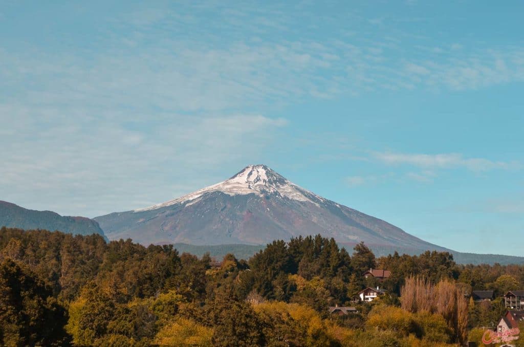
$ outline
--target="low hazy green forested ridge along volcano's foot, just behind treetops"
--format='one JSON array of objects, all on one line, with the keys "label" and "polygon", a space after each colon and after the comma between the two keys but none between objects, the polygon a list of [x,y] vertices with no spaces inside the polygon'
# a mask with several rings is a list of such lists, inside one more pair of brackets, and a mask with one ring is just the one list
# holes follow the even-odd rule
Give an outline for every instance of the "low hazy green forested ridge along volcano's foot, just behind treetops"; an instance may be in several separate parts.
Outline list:
[{"label": "low hazy green forested ridge along volcano's foot, just behind treetops", "polygon": [[[340,244],[340,247],[345,247],[346,250],[352,254],[354,244]],[[177,248],[180,253],[191,253],[197,256],[202,256],[204,253],[209,253],[212,257],[220,260],[227,253],[234,254],[238,259],[249,259],[253,254],[266,248],[266,245],[242,245],[242,244],[229,244],[229,245],[190,245],[187,243],[176,243],[174,247]],[[393,254],[397,251],[399,254],[419,255],[424,253],[426,250],[414,250],[409,248],[399,247],[380,247],[370,246],[375,256],[386,256]],[[500,265],[508,264],[524,264],[524,257],[516,257],[511,255],[499,255],[499,254],[474,254],[474,253],[461,253],[455,251],[447,251],[453,254],[453,259],[457,264],[490,264],[493,265],[498,263]]]}]

